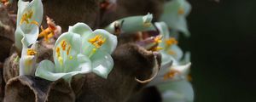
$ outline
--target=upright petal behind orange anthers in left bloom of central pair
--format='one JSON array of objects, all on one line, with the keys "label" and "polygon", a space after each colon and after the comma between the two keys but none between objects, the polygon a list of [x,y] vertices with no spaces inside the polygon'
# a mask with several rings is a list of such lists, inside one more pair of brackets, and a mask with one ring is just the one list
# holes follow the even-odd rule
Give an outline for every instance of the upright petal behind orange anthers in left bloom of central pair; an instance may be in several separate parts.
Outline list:
[{"label": "upright petal behind orange anthers in left bloom of central pair", "polygon": [[[62,48],[61,43],[64,41],[66,46]],[[80,46],[80,35],[73,32],[63,33],[61,37],[57,39],[53,53],[57,72],[70,71],[70,69],[75,69],[78,66],[76,56],[80,53]],[[68,49],[69,47],[70,49]],[[57,48],[60,49],[60,57],[58,57]]]}]

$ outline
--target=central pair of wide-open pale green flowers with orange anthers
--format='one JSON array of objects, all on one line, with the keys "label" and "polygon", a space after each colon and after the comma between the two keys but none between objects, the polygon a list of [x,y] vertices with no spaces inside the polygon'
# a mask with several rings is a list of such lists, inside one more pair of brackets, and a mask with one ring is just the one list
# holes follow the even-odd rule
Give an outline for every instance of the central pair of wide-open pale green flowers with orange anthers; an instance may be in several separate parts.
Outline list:
[{"label": "central pair of wide-open pale green flowers with orange anthers", "polygon": [[36,76],[55,81],[61,77],[67,81],[77,74],[94,72],[107,78],[113,68],[112,54],[117,45],[117,37],[108,31],[91,31],[84,23],[69,27],[55,42],[53,64],[43,60],[37,68]]}]

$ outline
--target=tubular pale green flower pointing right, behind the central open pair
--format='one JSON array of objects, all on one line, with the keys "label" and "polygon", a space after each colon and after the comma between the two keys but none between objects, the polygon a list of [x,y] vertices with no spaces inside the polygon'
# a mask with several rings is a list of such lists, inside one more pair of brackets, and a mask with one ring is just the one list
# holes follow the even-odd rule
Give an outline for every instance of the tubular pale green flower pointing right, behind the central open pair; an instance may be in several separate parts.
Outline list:
[{"label": "tubular pale green flower pointing right, behind the central open pair", "polygon": [[155,30],[154,26],[151,23],[152,19],[153,19],[152,14],[146,14],[144,16],[139,15],[139,16],[126,17],[124,19],[114,21],[105,29],[110,33],[114,33],[114,24],[118,22],[119,24],[121,24],[122,32],[132,33],[137,31]]}]

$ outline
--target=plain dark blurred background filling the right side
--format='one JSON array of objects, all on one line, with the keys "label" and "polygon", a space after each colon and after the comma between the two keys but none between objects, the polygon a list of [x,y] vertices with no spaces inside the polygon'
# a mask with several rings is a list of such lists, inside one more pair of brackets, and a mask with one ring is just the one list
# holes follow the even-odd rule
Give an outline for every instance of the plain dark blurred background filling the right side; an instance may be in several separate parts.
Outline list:
[{"label": "plain dark blurred background filling the right side", "polygon": [[195,102],[254,102],[256,97],[256,1],[189,0]]}]

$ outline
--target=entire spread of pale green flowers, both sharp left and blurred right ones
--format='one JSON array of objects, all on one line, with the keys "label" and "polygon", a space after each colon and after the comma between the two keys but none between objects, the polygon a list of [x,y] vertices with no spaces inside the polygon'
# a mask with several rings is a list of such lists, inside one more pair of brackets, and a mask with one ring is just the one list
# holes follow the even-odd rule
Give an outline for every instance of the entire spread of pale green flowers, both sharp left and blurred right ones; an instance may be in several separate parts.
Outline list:
[{"label": "entire spread of pale green flowers, both sharp left and blurred right ones", "polygon": [[162,56],[160,71],[146,81],[151,81],[148,86],[156,86],[164,101],[193,101],[193,88],[188,82],[190,55],[177,46],[180,32],[189,37],[186,16],[191,6],[186,0],[165,3],[159,22],[152,23],[153,15],[146,14],[116,20],[105,30],[92,31],[84,23],[70,26],[55,42],[54,62],[45,59],[38,65],[38,37],[49,42],[50,37],[61,33],[61,26],[46,17],[48,27],[41,26],[39,32],[44,9],[41,0],[19,0],[18,8],[15,47],[21,51],[20,76],[35,75],[49,81],[63,78],[69,82],[75,75],[93,72],[107,78],[113,69],[111,54],[118,42],[114,35],[136,33],[138,46]]}]

